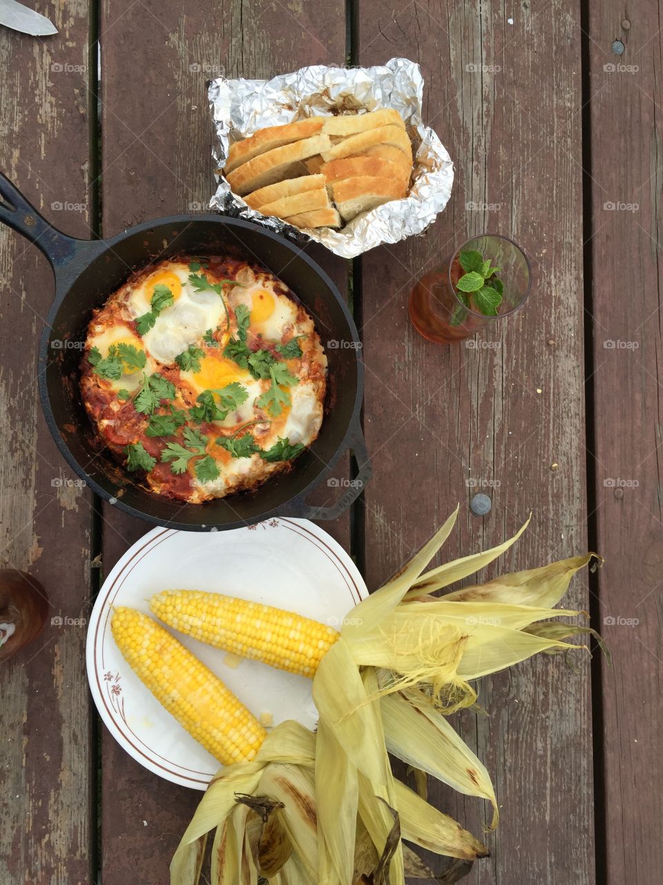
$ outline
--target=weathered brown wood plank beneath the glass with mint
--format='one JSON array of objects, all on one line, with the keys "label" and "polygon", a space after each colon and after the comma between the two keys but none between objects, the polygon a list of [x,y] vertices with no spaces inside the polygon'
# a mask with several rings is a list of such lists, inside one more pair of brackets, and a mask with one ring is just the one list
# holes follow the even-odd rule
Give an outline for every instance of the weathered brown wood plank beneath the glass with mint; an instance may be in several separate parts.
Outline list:
[{"label": "weathered brown wood plank beneath the glass with mint", "polygon": [[[365,426],[375,461],[365,510],[369,586],[459,500],[446,557],[498,543],[530,509],[530,529],[501,570],[584,550],[579,4],[563,13],[545,4],[359,4],[358,36],[362,65],[390,56],[422,65],[424,119],[456,166],[453,199],[427,235],[362,259]],[[408,321],[413,281],[484,230],[511,235],[528,252],[530,304],[478,336],[478,348],[425,342]],[[469,514],[479,490],[470,480],[493,483],[485,519]],[[569,601],[586,607],[582,581]],[[587,661],[575,674],[542,658],[480,689],[489,717],[464,713],[459,727],[493,775],[502,821],[486,837],[492,857],[466,881],[590,885]],[[476,801],[437,795],[480,834]]]}]

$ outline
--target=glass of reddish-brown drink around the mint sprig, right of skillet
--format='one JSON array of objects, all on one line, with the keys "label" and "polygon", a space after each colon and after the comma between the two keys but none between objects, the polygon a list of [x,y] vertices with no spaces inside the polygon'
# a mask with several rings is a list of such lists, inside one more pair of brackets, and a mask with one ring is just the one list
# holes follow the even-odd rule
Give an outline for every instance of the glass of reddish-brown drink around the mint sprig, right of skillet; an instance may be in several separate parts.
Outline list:
[{"label": "glass of reddish-brown drink around the mint sprig, right of skillet", "polygon": [[[459,262],[461,251],[475,250],[499,266],[496,274],[504,292],[497,316],[486,316],[461,301],[456,284],[464,273]],[[491,327],[519,310],[530,295],[531,267],[525,253],[513,240],[498,234],[470,237],[450,258],[417,281],[410,295],[410,319],[424,338],[440,344],[453,344]]]}]

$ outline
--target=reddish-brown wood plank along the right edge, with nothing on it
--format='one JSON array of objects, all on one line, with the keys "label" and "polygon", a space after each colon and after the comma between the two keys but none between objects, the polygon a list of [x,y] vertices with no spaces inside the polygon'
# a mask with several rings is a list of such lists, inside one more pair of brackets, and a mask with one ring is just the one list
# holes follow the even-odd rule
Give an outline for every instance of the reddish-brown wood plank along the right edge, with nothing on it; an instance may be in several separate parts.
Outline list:
[{"label": "reddish-brown wood plank along the right edge, with nothing on it", "polygon": [[[607,559],[597,576],[600,629],[613,660],[601,668],[598,735],[606,885],[657,881],[663,863],[659,17],[653,2],[629,12],[590,4],[593,463]],[[621,56],[611,51],[617,39]],[[619,143],[609,119],[621,119]]]}]

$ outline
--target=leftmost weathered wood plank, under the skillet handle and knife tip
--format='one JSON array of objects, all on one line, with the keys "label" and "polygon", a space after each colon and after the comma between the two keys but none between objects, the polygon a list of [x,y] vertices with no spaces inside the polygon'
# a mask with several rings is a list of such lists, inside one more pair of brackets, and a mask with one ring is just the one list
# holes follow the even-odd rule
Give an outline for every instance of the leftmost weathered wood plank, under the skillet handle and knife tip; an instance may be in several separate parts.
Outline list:
[{"label": "leftmost weathered wood plank, under the skillet handle and knife tip", "polygon": [[[37,8],[59,35],[0,28],[0,168],[85,238],[88,4]],[[88,885],[94,874],[85,621],[71,623],[89,613],[91,496],[39,405],[37,348],[53,295],[46,259],[0,226],[0,565],[33,574],[50,597],[44,633],[0,669],[1,878],[16,885]]]}]

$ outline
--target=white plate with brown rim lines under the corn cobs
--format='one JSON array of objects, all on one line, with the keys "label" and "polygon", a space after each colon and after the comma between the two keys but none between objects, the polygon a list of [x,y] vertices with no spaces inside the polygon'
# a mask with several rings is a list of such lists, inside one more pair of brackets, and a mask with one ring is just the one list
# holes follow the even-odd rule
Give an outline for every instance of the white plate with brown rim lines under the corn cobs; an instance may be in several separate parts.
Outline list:
[{"label": "white plate with brown rim lines under the corn cobs", "polygon": [[[345,550],[307,519],[270,519],[216,533],[155,528],[126,551],[103,582],[90,619],[90,690],[110,734],[130,756],[168,781],[205,789],[219,763],[143,686],[110,633],[111,606],[149,612],[149,596],[164,589],[217,590],[332,626],[368,591]],[[270,712],[274,725],[294,719],[315,726],[309,679],[249,660],[233,669],[225,651],[179,638],[256,716]]]}]

